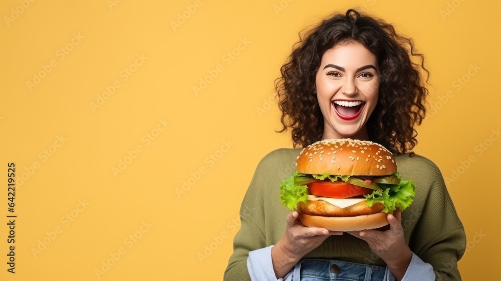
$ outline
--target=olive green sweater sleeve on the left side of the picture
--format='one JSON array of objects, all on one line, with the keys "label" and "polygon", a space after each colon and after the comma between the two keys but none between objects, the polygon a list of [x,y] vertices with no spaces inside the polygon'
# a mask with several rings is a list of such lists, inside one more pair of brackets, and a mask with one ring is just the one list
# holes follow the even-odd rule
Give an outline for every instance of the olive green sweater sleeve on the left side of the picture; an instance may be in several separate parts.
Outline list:
[{"label": "olive green sweater sleeve on the left side of the picture", "polygon": [[240,206],[240,229],[233,239],[233,253],[224,270],[223,280],[249,280],[247,257],[250,251],[266,247],[264,234],[264,198],[266,170],[263,160],[256,168],[253,179]]}]

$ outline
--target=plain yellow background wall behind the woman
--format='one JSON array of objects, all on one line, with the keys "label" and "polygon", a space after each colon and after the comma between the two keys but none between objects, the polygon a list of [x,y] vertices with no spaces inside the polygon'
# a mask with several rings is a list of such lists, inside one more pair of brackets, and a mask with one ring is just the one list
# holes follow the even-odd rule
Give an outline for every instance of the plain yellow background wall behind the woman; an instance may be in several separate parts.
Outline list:
[{"label": "plain yellow background wall behind the woman", "polygon": [[[94,280],[125,252],[100,279],[221,279],[256,165],[292,147],[290,133],[274,132],[280,66],[298,32],[353,7],[394,24],[425,55],[436,110],[417,127],[415,152],[444,177],[461,172],[447,186],[469,242],[463,279],[498,273],[501,141],[488,141],[501,120],[497,2],[112,1],[0,4],[0,278]],[[468,81],[459,88],[457,79]],[[128,165],[114,172],[120,161]],[[16,189],[15,274],[6,264],[10,162],[26,179]]]}]

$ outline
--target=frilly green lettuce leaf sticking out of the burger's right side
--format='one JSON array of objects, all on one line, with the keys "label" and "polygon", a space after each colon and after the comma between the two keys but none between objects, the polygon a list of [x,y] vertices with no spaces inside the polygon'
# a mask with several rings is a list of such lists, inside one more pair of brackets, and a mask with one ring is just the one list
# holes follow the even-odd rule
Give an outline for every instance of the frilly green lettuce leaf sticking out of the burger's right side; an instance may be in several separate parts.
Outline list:
[{"label": "frilly green lettuce leaf sticking out of the burger's right side", "polygon": [[379,184],[379,186],[383,191],[375,190],[371,195],[365,195],[367,198],[365,202],[369,207],[381,203],[384,205],[383,212],[388,213],[397,208],[403,211],[414,201],[416,185],[412,180],[400,181],[398,185]]}]

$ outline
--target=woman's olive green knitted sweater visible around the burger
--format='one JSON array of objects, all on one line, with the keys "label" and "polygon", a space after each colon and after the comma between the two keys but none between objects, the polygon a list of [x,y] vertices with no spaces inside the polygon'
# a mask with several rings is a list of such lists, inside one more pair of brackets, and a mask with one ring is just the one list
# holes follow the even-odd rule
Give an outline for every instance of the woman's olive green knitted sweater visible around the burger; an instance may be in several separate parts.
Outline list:
[{"label": "woman's olive green knitted sweater visible around the burger", "polygon": [[[279,200],[280,183],[296,172],[301,149],[278,149],[259,163],[241,207],[241,227],[233,240],[233,254],[224,280],[250,280],[249,251],[275,245],[285,234],[290,210]],[[460,280],[457,260],[464,253],[466,237],[437,166],[415,155],[395,157],[398,173],[416,184],[414,202],[402,212],[405,241],[435,270],[436,280]],[[367,243],[348,233],[330,236],[305,258],[328,258],[386,266]]]}]

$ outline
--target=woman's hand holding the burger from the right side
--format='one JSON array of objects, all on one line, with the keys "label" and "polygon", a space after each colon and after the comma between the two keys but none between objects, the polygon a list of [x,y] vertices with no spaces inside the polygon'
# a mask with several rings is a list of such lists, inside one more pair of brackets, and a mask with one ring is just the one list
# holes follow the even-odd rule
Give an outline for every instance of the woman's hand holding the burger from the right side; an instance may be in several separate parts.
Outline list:
[{"label": "woman's hand holding the burger from the right side", "polygon": [[374,229],[349,231],[351,235],[365,240],[372,251],[383,259],[397,280],[401,280],[412,259],[412,251],[405,243],[402,228],[402,212],[397,210],[394,215],[388,214],[390,229],[378,231]]}]

